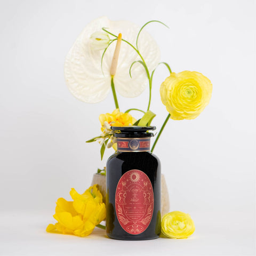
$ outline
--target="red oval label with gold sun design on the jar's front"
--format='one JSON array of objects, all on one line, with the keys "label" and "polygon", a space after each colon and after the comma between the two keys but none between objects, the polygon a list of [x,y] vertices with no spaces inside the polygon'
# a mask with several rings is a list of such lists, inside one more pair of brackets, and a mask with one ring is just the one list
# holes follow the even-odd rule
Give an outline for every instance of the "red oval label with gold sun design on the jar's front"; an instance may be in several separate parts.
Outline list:
[{"label": "red oval label with gold sun design on the jar's front", "polygon": [[129,234],[145,231],[154,210],[153,187],[148,176],[139,170],[126,172],[116,187],[116,215]]}]

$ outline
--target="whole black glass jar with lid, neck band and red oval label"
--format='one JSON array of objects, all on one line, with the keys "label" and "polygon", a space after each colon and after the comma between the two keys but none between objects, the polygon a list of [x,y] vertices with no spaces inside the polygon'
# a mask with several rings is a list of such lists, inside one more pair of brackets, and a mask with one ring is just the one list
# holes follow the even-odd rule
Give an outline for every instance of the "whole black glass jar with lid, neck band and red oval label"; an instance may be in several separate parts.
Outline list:
[{"label": "whole black glass jar with lid, neck band and red oval label", "polygon": [[161,233],[161,164],[150,152],[155,126],[112,126],[117,152],[107,161],[107,235],[122,240]]}]

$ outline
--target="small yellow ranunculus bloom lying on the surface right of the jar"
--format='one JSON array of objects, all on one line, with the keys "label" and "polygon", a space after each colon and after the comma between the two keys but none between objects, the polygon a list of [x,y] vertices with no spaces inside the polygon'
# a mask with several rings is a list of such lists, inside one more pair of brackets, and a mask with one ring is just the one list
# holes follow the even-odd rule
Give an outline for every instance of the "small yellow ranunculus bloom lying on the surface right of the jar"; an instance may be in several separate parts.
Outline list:
[{"label": "small yellow ranunculus bloom lying on the surface right of the jar", "polygon": [[195,231],[189,214],[174,211],[166,213],[161,222],[162,233],[169,238],[187,238]]}]

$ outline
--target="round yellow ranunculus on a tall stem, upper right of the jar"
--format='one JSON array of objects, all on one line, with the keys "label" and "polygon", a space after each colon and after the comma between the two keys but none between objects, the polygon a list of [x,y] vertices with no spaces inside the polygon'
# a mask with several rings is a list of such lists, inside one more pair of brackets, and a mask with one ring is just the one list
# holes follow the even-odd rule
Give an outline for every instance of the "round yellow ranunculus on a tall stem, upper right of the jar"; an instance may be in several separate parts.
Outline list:
[{"label": "round yellow ranunculus on a tall stem, upper right of the jar", "polygon": [[212,83],[196,71],[171,73],[162,83],[160,94],[172,119],[195,119],[211,99]]}]

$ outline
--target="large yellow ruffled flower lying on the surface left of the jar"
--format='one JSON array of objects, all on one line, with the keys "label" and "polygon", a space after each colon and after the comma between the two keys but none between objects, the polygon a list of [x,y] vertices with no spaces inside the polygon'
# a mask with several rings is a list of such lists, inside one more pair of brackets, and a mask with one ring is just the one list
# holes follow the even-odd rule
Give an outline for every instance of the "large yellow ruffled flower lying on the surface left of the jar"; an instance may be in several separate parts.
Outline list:
[{"label": "large yellow ruffled flower lying on the surface left of the jar", "polygon": [[102,220],[106,218],[106,207],[102,203],[102,195],[93,185],[83,194],[72,188],[70,195],[73,202],[59,198],[55,208],[54,219],[58,222],[46,228],[50,233],[73,234],[76,236],[90,235]]}]

